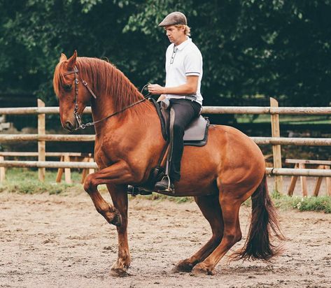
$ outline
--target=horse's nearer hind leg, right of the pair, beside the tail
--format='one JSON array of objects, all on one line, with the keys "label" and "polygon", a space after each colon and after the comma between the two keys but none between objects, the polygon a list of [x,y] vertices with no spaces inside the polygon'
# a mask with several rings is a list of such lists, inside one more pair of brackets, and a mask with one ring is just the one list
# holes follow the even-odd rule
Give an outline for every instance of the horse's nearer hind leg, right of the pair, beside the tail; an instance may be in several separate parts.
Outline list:
[{"label": "horse's nearer hind leg, right of the pair, beside the tail", "polygon": [[[230,248],[241,240],[241,230],[239,223],[239,209],[245,199],[239,196],[236,198],[234,192],[220,192],[220,206],[224,222],[223,238],[220,245],[204,261],[197,264],[193,271],[195,273],[214,274],[214,268],[218,261],[230,250]],[[238,193],[237,193],[238,195]],[[240,195],[240,194],[239,194]],[[251,193],[248,193],[251,195]],[[243,193],[244,197],[244,193]]]}]

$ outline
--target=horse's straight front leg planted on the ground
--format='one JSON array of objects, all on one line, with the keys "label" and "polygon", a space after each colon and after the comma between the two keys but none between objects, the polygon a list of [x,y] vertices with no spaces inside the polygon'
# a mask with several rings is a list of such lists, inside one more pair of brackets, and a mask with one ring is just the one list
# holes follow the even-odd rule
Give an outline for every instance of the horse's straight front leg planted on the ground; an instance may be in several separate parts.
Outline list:
[{"label": "horse's straight front leg planted on the ground", "polygon": [[115,208],[120,213],[122,222],[117,226],[118,231],[118,259],[111,267],[111,274],[126,276],[131,263],[129,245],[127,243],[127,185],[107,185]]}]

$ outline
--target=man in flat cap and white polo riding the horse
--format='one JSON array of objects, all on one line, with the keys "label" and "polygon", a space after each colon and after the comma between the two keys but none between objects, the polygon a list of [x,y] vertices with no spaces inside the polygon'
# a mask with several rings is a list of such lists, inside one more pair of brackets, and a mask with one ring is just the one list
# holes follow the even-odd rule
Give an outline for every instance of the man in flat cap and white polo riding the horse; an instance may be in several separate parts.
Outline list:
[{"label": "man in flat cap and white polo riding the horse", "polygon": [[[181,178],[181,157],[185,127],[199,116],[202,108],[200,85],[202,79],[202,55],[192,42],[190,27],[181,12],[167,15],[159,24],[164,27],[171,44],[166,52],[166,84],[148,85],[150,94],[161,94],[157,101],[169,99],[174,110],[173,141],[169,177],[164,177],[155,185],[155,191],[174,189],[174,181]],[[169,182],[170,180],[170,182]]]}]

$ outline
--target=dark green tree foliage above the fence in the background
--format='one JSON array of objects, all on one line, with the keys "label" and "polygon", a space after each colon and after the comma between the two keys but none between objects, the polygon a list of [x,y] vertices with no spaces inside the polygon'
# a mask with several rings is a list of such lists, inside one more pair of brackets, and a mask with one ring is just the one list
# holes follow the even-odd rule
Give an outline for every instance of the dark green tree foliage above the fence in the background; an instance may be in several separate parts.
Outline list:
[{"label": "dark green tree foliage above the fence in the background", "polygon": [[256,94],[328,106],[331,1],[29,0],[0,2],[1,92],[34,92],[54,105],[59,55],[107,57],[135,85],[164,83],[169,41],[157,24],[188,16],[204,56],[205,105]]}]

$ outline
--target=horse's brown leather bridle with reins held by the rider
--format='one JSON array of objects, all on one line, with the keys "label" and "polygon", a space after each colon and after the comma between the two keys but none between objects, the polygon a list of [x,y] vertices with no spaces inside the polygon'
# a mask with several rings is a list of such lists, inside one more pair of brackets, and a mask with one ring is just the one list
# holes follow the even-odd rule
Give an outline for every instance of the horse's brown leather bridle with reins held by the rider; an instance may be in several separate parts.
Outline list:
[{"label": "horse's brown leather bridle with reins held by the rider", "polygon": [[[129,106],[126,106],[125,108],[123,108],[123,109],[121,109],[121,110],[119,110],[119,111],[117,111],[117,112],[115,112],[111,115],[108,115],[108,116],[102,118],[101,120],[97,120],[97,121],[94,121],[94,122],[87,122],[86,124],[83,124],[82,118],[80,117],[80,114],[78,113],[78,83],[79,83],[79,80],[86,87],[86,89],[90,92],[90,94],[92,94],[94,99],[97,99],[97,96],[94,94],[94,92],[89,87],[87,82],[85,80],[83,80],[82,78],[80,78],[80,75],[78,75],[78,69],[77,69],[76,66],[73,68],[72,71],[68,71],[68,72],[64,73],[64,75],[70,75],[70,74],[73,74],[73,73],[75,74],[75,106],[73,108],[73,114],[75,115],[76,121],[78,123],[78,127],[76,127],[76,129],[74,129],[75,131],[78,130],[78,129],[85,129],[86,127],[94,126],[94,124],[97,124],[99,122],[102,122],[102,121],[110,118],[110,117],[118,115],[119,113],[122,113],[124,110],[127,110],[128,108],[131,108],[132,106],[135,106],[136,104],[145,101],[150,96],[150,93],[148,93],[146,96],[143,97],[143,99],[141,99],[139,101],[136,101],[136,102],[130,104]],[[143,89],[145,89],[146,86],[147,85],[143,86]],[[141,91],[143,91],[143,89],[141,89]]]}]

